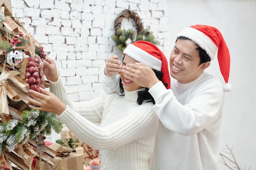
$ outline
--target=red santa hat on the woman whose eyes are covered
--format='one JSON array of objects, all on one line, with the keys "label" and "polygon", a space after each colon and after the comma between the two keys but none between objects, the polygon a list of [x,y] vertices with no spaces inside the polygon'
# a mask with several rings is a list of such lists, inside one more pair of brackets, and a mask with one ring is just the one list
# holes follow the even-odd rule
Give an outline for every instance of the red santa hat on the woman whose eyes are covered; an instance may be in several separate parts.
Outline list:
[{"label": "red santa hat on the woman whose eyes are covered", "polygon": [[163,72],[162,82],[168,83],[166,88],[170,88],[171,80],[167,59],[155,44],[148,41],[135,41],[124,49],[124,54],[129,55],[137,62],[142,62],[157,71]]}]

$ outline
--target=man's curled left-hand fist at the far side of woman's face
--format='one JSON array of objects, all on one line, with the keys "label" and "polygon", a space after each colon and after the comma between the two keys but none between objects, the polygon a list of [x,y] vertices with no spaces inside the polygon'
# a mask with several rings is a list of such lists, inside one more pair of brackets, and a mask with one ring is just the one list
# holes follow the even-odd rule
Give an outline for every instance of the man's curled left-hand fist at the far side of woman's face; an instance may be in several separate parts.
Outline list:
[{"label": "man's curled left-hand fist at the far side of woman's face", "polygon": [[118,75],[121,72],[121,62],[118,60],[117,55],[110,57],[106,63],[106,67],[104,68],[104,74],[108,77],[112,77],[113,75]]}]

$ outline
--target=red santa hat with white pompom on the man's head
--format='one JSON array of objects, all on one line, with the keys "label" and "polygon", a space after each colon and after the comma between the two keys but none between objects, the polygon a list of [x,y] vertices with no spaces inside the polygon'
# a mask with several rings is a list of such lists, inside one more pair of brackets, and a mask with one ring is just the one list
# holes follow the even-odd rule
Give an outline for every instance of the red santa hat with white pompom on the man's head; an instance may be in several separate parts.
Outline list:
[{"label": "red santa hat with white pompom on the man's head", "polygon": [[193,25],[186,27],[177,37],[186,37],[198,44],[206,51],[211,60],[213,60],[216,51],[218,50],[218,62],[220,72],[225,80],[225,91],[231,91],[231,84],[228,84],[229,69],[230,69],[230,55],[227,44],[218,29],[208,25]]}]

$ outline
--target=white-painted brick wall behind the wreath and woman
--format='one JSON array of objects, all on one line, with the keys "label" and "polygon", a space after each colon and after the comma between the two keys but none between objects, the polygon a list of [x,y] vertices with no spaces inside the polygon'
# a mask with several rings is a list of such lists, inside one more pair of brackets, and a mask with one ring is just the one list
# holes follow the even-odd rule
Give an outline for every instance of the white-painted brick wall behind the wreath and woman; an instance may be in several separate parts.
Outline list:
[{"label": "white-painted brick wall behind the wreath and woman", "polygon": [[[114,21],[124,9],[136,11],[144,28],[159,40],[168,40],[166,0],[11,0],[13,16],[42,44],[48,57],[56,60],[68,97],[72,101],[93,99],[104,93],[101,82],[106,60],[116,54]],[[159,24],[161,26],[159,26]],[[121,29],[132,28],[124,18]],[[57,135],[58,136],[58,135]],[[56,134],[47,139],[54,142]]]}]

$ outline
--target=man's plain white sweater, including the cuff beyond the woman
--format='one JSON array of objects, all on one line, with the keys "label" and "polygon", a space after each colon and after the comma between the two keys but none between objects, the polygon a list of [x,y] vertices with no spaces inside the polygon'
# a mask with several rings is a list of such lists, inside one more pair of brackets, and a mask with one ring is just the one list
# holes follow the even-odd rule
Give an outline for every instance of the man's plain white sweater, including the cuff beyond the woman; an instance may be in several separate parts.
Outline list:
[{"label": "man's plain white sweater, including the cuff beyond the woman", "polygon": [[[107,93],[117,90],[116,77],[104,77]],[[158,82],[149,90],[155,99],[159,128],[150,170],[218,170],[224,90],[203,72],[194,82],[171,89]]]}]

